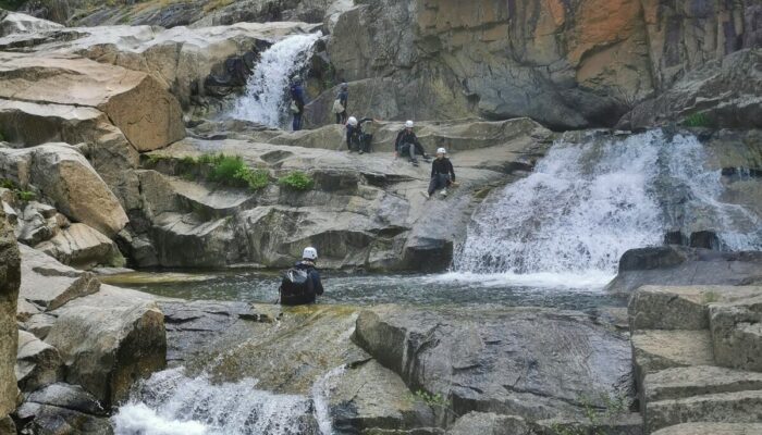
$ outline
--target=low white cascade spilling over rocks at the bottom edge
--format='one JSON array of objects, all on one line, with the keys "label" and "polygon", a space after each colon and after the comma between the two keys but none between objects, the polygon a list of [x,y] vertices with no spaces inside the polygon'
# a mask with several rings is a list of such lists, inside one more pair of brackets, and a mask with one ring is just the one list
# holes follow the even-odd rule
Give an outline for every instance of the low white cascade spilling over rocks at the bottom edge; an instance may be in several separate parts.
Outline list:
[{"label": "low white cascade spilling over rocks at the bottom edge", "polygon": [[[329,375],[334,375],[331,372]],[[327,375],[327,376],[329,376]],[[325,380],[315,399],[257,389],[257,381],[214,384],[183,368],[155,373],[112,418],[116,435],[302,435],[330,431]],[[324,409],[323,409],[324,408]],[[329,435],[329,433],[323,433]]]}]

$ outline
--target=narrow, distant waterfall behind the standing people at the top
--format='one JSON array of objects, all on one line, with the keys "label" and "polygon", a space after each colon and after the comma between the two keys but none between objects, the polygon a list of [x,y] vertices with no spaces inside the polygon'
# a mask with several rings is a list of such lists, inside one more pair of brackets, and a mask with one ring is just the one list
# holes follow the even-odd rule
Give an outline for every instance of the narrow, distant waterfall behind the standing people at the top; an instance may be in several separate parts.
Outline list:
[{"label": "narrow, distant waterfall behind the standing people at the top", "polygon": [[288,117],[291,77],[304,71],[321,33],[293,35],[266,50],[246,85],[246,95],[231,114],[238,120],[271,127],[283,126]]}]

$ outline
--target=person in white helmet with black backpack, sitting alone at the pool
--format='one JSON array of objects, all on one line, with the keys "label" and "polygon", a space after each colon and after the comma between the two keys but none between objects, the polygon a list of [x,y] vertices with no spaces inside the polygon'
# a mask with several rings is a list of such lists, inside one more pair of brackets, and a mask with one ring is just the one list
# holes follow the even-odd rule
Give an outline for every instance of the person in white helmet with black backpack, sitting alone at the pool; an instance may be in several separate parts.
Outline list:
[{"label": "person in white helmet with black backpack, sitting alone at the pool", "polygon": [[320,273],[315,264],[318,261],[318,250],[308,247],[302,254],[302,261],[294,264],[281,281],[278,289],[282,306],[303,306],[315,303],[318,296],[323,294]]}]

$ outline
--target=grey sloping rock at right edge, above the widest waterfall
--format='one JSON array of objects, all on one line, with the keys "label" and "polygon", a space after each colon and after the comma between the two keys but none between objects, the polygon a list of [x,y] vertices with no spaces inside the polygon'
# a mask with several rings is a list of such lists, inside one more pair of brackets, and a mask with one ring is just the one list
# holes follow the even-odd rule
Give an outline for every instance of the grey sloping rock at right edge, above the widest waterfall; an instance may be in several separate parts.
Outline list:
[{"label": "grey sloping rock at right edge, above the widest waterfall", "polygon": [[762,50],[748,49],[708,62],[657,97],[638,104],[619,127],[671,122],[702,127],[762,127]]}]

